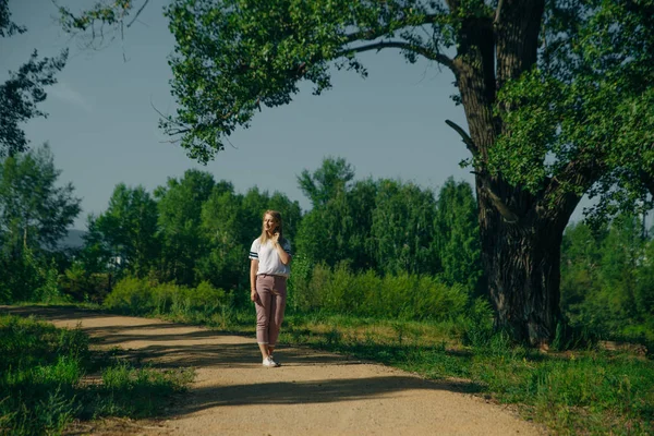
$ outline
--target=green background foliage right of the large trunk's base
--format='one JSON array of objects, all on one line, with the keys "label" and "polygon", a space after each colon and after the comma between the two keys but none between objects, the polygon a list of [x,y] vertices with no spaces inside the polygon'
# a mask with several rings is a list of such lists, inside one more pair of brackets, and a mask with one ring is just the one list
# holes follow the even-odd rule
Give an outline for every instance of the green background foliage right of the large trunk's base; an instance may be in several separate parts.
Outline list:
[{"label": "green background foliage right of the large trunk's base", "polygon": [[561,251],[561,306],[572,326],[604,338],[654,340],[652,240],[642,220],[621,215],[593,232],[571,226]]}]

